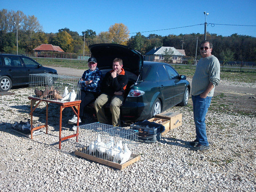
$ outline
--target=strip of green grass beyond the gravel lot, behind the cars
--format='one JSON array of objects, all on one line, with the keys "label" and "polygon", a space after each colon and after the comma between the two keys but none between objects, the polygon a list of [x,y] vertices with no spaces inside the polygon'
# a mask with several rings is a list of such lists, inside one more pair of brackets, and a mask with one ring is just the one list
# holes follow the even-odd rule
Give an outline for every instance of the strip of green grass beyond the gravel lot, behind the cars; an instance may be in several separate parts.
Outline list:
[{"label": "strip of green grass beyond the gravel lot, behind the cars", "polygon": [[[67,67],[75,69],[88,69],[87,60],[73,60],[73,59],[54,59],[54,58],[33,58],[43,66]],[[195,65],[175,65],[172,66],[181,75],[186,75],[192,78],[195,73]],[[240,72],[241,70],[241,72]],[[221,66],[221,79],[231,80],[234,82],[256,83],[256,68],[236,68]]]}]

